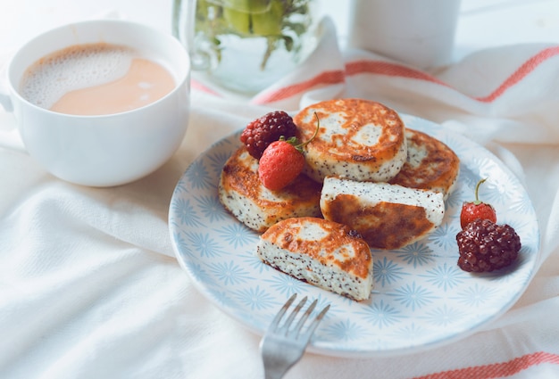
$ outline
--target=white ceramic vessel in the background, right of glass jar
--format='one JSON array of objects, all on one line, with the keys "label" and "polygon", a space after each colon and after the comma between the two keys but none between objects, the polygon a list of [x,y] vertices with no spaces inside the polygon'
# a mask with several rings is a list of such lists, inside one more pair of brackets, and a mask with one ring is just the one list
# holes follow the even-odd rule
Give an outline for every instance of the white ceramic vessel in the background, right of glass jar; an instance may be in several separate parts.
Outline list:
[{"label": "white ceramic vessel in the background, right of glass jar", "polygon": [[460,0],[352,0],[348,45],[427,70],[452,60]]}]

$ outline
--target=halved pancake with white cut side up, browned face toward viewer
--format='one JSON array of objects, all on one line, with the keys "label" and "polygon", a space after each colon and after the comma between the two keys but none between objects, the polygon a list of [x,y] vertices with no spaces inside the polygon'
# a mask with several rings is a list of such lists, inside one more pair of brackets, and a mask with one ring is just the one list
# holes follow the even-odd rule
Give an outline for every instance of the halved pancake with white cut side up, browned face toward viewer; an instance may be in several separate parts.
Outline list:
[{"label": "halved pancake with white cut side up, browned face toward viewer", "polygon": [[388,183],[327,177],[324,218],[355,229],[371,248],[399,249],[437,228],[445,216],[443,194]]}]

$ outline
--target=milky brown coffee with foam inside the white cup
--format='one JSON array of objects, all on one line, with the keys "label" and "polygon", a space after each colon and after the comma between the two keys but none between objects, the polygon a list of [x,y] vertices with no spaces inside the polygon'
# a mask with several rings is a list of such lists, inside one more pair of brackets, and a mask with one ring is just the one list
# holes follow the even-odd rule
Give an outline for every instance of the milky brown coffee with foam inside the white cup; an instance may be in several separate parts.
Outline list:
[{"label": "milky brown coffee with foam inside the white cup", "polygon": [[35,62],[20,93],[41,108],[98,115],[153,103],[175,87],[161,65],[122,45],[72,45]]}]

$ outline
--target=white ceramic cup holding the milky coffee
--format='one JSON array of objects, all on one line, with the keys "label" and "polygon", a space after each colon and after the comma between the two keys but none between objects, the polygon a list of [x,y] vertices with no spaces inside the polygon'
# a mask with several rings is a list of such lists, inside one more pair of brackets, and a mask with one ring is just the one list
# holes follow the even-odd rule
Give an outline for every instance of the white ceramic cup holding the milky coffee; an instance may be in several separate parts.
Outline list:
[{"label": "white ceramic cup holding the milky coffee", "polygon": [[[127,45],[161,64],[176,87],[141,108],[100,116],[49,111],[18,92],[21,78],[38,59],[70,45]],[[79,185],[113,186],[137,180],[168,161],[182,142],[189,115],[190,62],[179,41],[130,21],[82,21],[47,31],[23,45],[7,68],[8,94],[25,150],[55,177]]]}]

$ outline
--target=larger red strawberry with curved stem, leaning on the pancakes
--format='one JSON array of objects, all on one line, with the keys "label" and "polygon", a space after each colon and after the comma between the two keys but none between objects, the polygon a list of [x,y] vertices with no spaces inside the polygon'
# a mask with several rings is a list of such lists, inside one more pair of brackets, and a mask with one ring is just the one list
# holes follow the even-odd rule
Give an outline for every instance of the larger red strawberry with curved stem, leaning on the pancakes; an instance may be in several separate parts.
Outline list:
[{"label": "larger red strawberry with curved stem, leaning on the pancakes", "polygon": [[303,147],[313,141],[320,128],[317,119],[316,130],[313,137],[303,144],[298,144],[296,137],[286,140],[283,136],[279,141],[272,142],[263,151],[258,162],[258,177],[262,184],[271,191],[278,191],[289,185],[301,174],[305,168],[305,155]]}]

